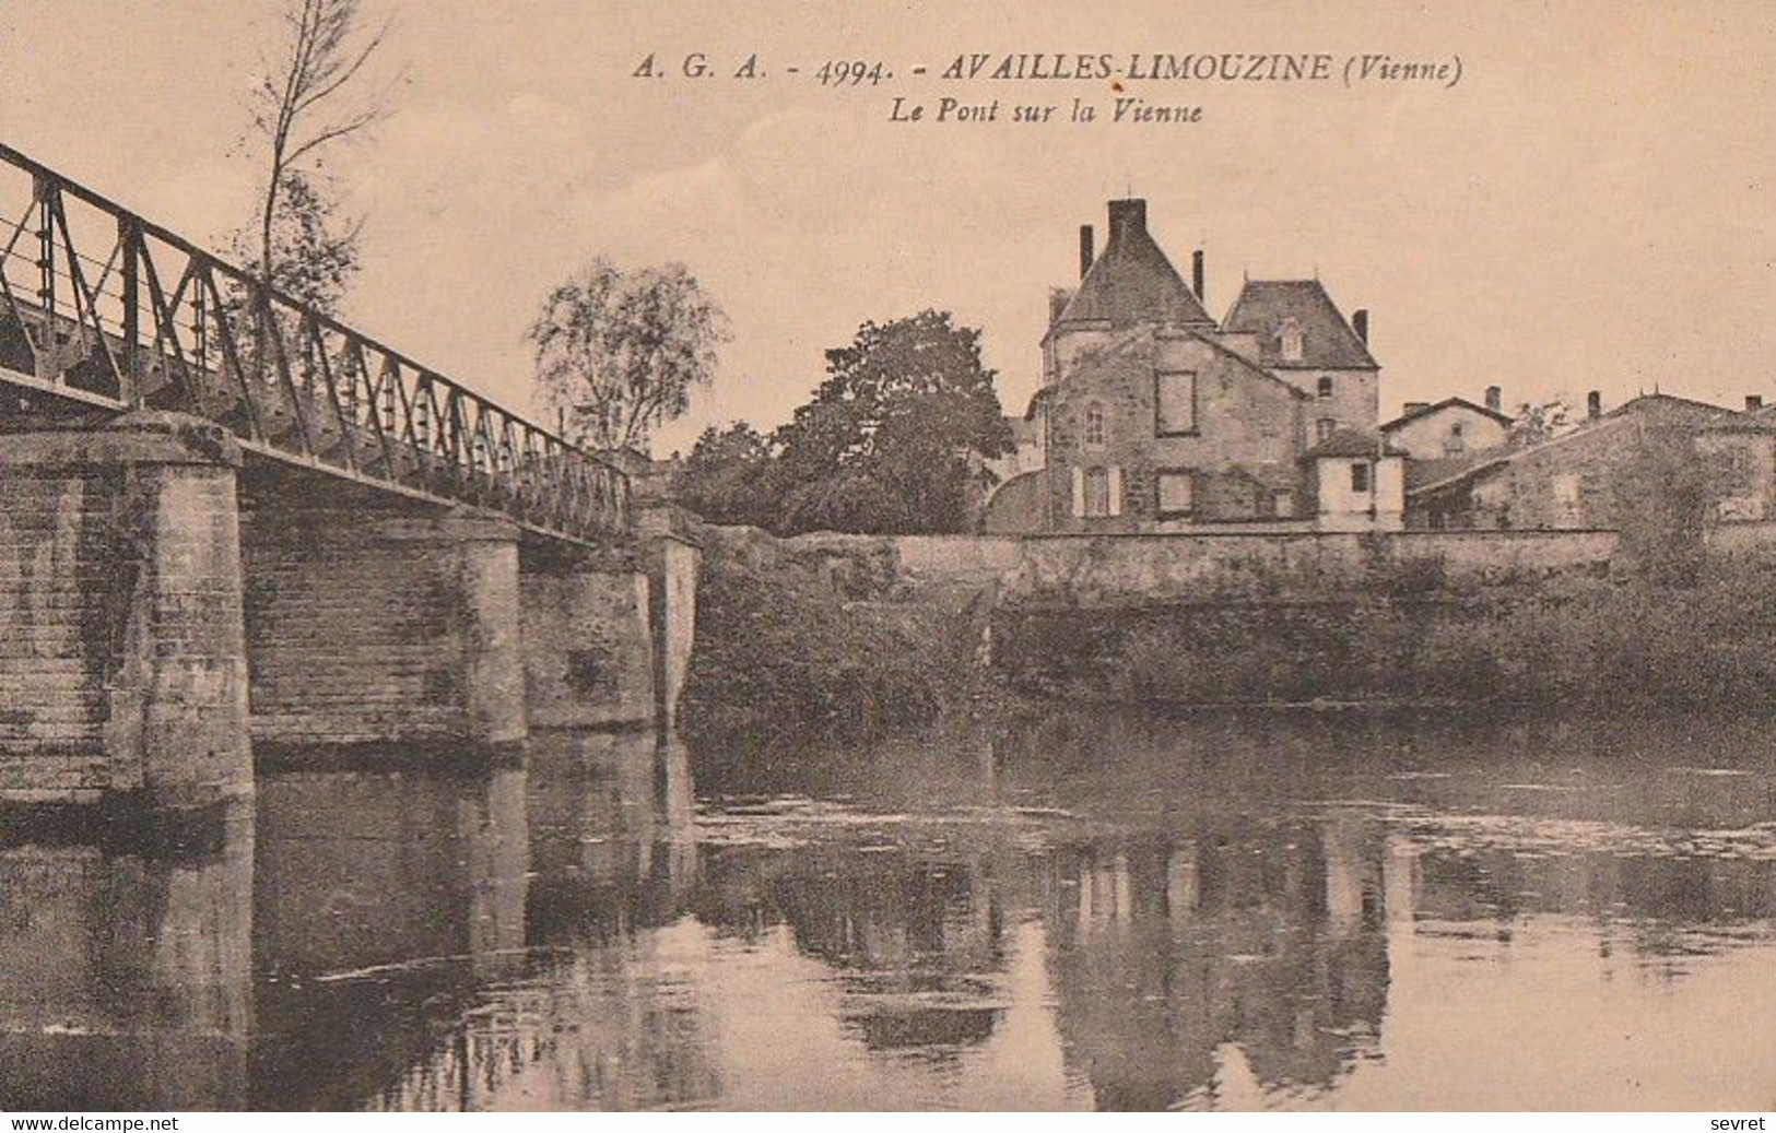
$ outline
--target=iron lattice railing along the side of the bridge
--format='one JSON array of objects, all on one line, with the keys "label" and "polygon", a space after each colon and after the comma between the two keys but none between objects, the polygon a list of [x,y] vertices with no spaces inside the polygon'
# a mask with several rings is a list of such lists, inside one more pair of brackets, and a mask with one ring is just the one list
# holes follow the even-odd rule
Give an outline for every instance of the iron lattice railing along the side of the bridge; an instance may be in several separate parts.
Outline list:
[{"label": "iron lattice railing along the side of the bridge", "polygon": [[7,146],[0,369],[547,533],[630,529],[620,469]]}]

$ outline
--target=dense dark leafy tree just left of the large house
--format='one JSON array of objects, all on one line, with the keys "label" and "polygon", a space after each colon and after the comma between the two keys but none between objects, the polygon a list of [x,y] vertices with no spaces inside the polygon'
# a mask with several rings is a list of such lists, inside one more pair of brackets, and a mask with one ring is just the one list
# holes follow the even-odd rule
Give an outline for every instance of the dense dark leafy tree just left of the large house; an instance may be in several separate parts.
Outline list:
[{"label": "dense dark leafy tree just left of the large house", "polygon": [[982,460],[1012,448],[980,332],[948,313],[863,323],[826,352],[828,378],[776,433],[796,485],[785,522],[868,533],[968,527],[989,479]]}]

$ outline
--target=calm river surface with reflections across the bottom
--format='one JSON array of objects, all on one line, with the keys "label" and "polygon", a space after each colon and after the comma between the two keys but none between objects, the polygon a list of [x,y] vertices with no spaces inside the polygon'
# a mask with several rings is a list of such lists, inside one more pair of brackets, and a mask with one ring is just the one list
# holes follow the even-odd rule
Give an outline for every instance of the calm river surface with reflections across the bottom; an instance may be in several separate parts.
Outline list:
[{"label": "calm river surface with reflections across the bottom", "polygon": [[1776,726],[1062,716],[0,838],[0,1108],[1771,1108]]}]

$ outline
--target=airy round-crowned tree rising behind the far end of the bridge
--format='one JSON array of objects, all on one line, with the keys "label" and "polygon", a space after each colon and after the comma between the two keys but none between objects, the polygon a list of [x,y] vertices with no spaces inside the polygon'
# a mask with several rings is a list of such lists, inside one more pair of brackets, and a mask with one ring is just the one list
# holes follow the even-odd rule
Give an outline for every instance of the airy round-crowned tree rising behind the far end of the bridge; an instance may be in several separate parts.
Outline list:
[{"label": "airy round-crowned tree rising behind the far end of the bridge", "polygon": [[526,337],[574,440],[643,449],[714,378],[726,321],[682,263],[625,272],[600,256],[549,293]]}]

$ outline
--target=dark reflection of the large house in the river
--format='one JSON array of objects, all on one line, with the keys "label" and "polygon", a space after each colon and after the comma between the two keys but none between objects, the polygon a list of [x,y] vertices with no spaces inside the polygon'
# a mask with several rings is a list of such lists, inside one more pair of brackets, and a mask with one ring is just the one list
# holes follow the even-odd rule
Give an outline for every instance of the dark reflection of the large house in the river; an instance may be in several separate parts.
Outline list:
[{"label": "dark reflection of the large house in the river", "polygon": [[1380,831],[1229,819],[1071,844],[1044,915],[1060,1034],[1099,1108],[1213,1094],[1241,1050],[1268,1090],[1325,1090],[1387,1005]]}]

